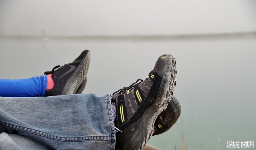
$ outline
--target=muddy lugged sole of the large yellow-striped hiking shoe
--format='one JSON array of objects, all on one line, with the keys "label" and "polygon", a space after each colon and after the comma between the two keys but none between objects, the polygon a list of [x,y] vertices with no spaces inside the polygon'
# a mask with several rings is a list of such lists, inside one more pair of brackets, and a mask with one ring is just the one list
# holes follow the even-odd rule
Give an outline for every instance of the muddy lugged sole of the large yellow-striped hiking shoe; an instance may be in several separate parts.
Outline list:
[{"label": "muddy lugged sole of the large yellow-striped hiking shoe", "polygon": [[122,150],[143,149],[154,132],[157,116],[166,109],[171,100],[176,85],[176,61],[168,54],[160,56],[160,59],[165,61],[162,69],[157,70],[158,75],[162,76],[162,81],[156,100],[136,123],[118,136],[118,147]]}]

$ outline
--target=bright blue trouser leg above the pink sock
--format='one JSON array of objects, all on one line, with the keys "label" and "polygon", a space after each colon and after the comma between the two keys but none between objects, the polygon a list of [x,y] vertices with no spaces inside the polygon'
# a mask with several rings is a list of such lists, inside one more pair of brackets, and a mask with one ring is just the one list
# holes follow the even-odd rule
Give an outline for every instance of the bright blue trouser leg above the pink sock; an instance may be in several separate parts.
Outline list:
[{"label": "bright blue trouser leg above the pink sock", "polygon": [[33,97],[44,96],[47,87],[47,75],[28,79],[0,79],[0,96]]}]

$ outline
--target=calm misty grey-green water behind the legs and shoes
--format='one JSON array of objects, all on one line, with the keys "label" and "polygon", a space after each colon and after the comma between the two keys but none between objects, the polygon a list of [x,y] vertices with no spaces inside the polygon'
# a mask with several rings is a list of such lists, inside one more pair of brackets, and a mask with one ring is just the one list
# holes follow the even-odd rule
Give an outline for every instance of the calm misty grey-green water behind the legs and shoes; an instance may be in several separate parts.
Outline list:
[{"label": "calm misty grey-green water behind the legs and shoes", "polygon": [[147,78],[160,55],[175,56],[177,86],[174,96],[180,101],[181,116],[171,130],[151,137],[149,144],[161,149],[169,149],[169,145],[172,149],[174,146],[180,149],[182,128],[188,150],[201,147],[215,150],[218,146],[223,150],[227,148],[228,140],[256,142],[255,37],[169,40],[0,38],[0,78],[23,79],[42,75],[56,65],[72,62],[84,49],[91,50],[91,63],[83,93],[98,96],[129,86],[138,78]]}]

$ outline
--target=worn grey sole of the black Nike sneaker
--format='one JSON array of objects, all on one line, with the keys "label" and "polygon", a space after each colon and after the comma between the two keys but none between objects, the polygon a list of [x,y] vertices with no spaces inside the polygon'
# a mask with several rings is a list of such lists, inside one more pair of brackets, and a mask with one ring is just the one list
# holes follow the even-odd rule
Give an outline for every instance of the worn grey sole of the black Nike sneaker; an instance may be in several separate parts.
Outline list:
[{"label": "worn grey sole of the black Nike sneaker", "polygon": [[61,95],[76,94],[77,89],[81,86],[87,76],[90,64],[90,56],[91,53],[88,50],[84,59],[78,65],[74,73],[68,78],[68,81],[64,86],[64,90]]}]

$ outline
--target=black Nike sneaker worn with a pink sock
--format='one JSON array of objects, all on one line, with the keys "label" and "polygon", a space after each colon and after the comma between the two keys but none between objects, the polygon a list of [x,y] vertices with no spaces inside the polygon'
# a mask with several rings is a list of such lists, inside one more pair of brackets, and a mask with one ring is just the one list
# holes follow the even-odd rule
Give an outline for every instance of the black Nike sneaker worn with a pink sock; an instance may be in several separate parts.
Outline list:
[{"label": "black Nike sneaker worn with a pink sock", "polygon": [[45,96],[76,94],[77,89],[86,79],[89,63],[90,51],[84,50],[72,63],[61,67],[58,65],[52,71],[44,72],[44,74],[52,73],[54,81],[54,87],[46,90]]}]

